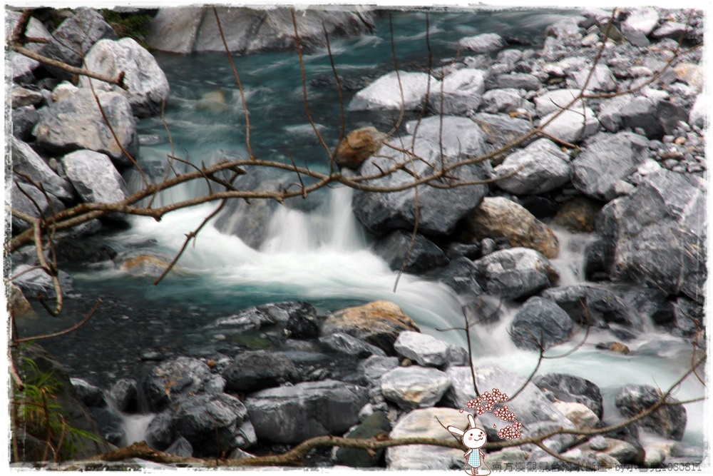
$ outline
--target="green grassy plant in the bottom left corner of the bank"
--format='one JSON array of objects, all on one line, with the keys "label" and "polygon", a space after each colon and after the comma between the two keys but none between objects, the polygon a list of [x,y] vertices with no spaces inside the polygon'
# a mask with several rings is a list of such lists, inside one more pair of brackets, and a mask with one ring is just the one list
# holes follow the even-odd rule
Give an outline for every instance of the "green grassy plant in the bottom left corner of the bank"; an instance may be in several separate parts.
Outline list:
[{"label": "green grassy plant in the bottom left corner of the bank", "polygon": [[[71,459],[86,441],[101,442],[98,435],[68,424],[66,410],[60,405],[58,393],[61,384],[53,370],[45,372],[31,358],[21,358],[21,372],[25,376],[21,386],[14,385],[14,435],[23,430],[25,437],[41,442],[42,461],[59,462]],[[19,460],[17,441],[14,441],[14,458]]]}]

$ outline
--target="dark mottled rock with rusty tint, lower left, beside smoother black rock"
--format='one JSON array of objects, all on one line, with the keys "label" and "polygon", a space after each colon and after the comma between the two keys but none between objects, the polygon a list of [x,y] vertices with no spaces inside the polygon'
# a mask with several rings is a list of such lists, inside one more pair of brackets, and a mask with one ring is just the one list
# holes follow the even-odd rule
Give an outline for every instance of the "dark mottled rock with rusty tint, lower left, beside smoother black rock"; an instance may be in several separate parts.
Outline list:
[{"label": "dark mottled rock with rusty tint, lower left, beside smoother black rock", "polygon": [[[182,356],[149,370],[141,381],[141,388],[148,409],[158,411],[183,397],[202,393],[210,388],[216,377],[220,378],[212,375],[210,368],[202,361]],[[170,441],[166,443],[167,446],[169,444]]]}]

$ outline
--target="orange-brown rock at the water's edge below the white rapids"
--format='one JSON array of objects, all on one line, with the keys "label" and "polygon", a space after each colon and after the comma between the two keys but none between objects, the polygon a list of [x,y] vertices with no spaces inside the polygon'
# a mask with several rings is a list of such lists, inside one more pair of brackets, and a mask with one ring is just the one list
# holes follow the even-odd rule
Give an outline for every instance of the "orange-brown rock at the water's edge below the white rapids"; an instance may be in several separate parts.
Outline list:
[{"label": "orange-brown rock at the water's edge below the white rapids", "polygon": [[390,355],[396,355],[394,342],[404,330],[421,332],[414,320],[398,305],[378,300],[355,308],[337,311],[322,325],[322,335],[345,333],[366,340]]}]

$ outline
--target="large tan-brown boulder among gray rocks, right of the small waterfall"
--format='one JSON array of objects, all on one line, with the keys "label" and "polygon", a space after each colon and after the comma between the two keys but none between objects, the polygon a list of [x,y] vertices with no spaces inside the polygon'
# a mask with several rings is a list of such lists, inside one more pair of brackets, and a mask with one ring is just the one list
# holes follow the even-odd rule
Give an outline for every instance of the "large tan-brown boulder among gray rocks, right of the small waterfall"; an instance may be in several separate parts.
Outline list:
[{"label": "large tan-brown boulder among gray rocks, right of the small waterfall", "polygon": [[557,258],[560,251],[555,233],[523,206],[507,198],[483,198],[478,209],[465,218],[463,226],[463,240],[506,238],[513,248],[531,248],[546,258]]}]

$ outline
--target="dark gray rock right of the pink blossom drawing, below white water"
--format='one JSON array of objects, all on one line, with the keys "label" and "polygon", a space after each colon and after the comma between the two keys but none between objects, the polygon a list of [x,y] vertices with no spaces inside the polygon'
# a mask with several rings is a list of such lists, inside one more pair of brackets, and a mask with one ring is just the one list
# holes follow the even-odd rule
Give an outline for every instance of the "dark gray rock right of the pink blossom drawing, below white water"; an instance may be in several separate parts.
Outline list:
[{"label": "dark gray rock right of the pink blossom drawing, below white water", "polygon": [[566,373],[548,373],[535,375],[533,383],[550,400],[585,405],[597,419],[601,419],[603,415],[602,393],[599,387],[589,380]]}]

